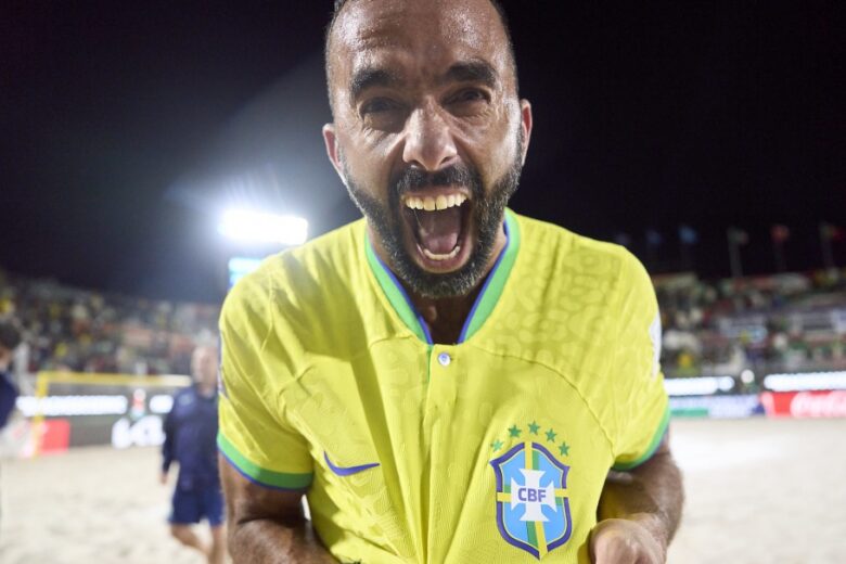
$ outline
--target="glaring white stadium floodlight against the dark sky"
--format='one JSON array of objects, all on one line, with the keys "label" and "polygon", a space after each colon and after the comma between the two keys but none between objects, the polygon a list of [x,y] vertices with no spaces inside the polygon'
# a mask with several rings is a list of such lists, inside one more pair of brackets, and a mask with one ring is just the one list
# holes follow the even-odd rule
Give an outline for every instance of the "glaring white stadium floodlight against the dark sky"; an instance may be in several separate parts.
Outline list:
[{"label": "glaring white stadium floodlight against the dark sky", "polygon": [[229,239],[243,243],[299,245],[308,238],[308,221],[249,209],[229,209],[217,228]]}]

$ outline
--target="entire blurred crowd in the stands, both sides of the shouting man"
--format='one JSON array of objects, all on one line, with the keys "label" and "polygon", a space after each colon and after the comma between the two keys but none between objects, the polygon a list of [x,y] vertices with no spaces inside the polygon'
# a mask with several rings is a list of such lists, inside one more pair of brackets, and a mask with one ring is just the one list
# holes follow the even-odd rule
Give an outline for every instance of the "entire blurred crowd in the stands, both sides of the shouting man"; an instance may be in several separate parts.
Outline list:
[{"label": "entire blurred crowd in the stands, both sides of the shouting man", "polygon": [[[846,369],[846,270],[654,279],[667,376]],[[219,307],[101,294],[0,271],[0,318],[23,329],[15,372],[189,374]]]}]

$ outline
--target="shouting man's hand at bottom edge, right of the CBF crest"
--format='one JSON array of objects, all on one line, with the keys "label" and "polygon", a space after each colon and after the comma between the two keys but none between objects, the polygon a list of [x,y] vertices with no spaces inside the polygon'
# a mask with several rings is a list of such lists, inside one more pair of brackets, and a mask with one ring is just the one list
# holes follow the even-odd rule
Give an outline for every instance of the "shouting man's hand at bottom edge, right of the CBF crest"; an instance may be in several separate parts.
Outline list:
[{"label": "shouting man's hand at bottom edge, right of the CBF crest", "polygon": [[664,564],[666,548],[637,521],[608,518],[600,522],[590,534],[590,561],[594,564]]}]

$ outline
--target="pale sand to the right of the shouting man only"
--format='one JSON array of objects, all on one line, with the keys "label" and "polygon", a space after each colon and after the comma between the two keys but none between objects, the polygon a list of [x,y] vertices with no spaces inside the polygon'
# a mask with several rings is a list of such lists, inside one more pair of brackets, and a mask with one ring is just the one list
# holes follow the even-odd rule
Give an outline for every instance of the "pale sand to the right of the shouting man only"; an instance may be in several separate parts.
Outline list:
[{"label": "pale sand to the right of the shouting man only", "polygon": [[669,562],[846,562],[846,420],[674,421],[687,505]]}]

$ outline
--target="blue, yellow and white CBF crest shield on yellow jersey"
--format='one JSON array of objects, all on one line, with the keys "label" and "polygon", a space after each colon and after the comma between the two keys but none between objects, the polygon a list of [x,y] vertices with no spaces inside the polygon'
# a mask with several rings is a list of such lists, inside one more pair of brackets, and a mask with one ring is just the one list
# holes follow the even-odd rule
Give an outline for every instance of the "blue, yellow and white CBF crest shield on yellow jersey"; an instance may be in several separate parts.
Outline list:
[{"label": "blue, yellow and white CBF crest shield on yellow jersey", "polygon": [[490,461],[497,475],[497,525],[508,542],[538,560],[573,533],[569,466],[539,443],[526,440]]}]

